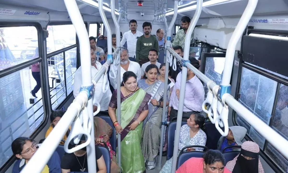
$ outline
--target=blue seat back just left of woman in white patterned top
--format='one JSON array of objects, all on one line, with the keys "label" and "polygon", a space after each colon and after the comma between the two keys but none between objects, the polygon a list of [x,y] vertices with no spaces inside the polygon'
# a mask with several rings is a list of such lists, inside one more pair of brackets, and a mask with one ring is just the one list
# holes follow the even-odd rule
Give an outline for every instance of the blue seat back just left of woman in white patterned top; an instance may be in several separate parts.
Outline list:
[{"label": "blue seat back just left of woman in white patterned top", "polygon": [[[186,124],[186,121],[182,121],[182,125]],[[173,156],[174,149],[174,138],[175,138],[175,130],[176,130],[176,121],[172,121],[169,123],[167,128],[167,160],[169,160]]]}]

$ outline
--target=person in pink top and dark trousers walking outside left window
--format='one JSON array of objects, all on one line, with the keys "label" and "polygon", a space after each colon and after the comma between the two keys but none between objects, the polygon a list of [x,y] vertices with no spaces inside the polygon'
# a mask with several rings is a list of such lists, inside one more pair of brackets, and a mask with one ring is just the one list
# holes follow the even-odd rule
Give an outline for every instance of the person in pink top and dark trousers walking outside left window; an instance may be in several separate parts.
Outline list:
[{"label": "person in pink top and dark trousers walking outside left window", "polygon": [[[38,48],[36,48],[35,50],[35,54],[33,56],[33,59],[39,57],[39,52],[38,52]],[[39,63],[33,64],[32,68],[31,68],[31,72],[32,72],[32,76],[33,78],[36,80],[36,86],[34,87],[34,89],[30,92],[33,97],[36,97],[36,93],[39,91],[39,89],[41,88],[41,79],[40,79],[40,66]]]}]

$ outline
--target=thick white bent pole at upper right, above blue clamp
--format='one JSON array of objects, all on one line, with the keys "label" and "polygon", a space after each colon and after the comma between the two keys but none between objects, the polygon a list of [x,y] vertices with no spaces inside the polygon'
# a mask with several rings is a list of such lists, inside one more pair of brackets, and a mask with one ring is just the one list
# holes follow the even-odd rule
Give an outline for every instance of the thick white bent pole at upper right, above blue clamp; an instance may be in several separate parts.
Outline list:
[{"label": "thick white bent pole at upper right, above blue clamp", "polygon": [[[234,62],[234,56],[235,56],[235,50],[236,45],[240,38],[243,35],[243,32],[248,25],[248,22],[250,18],[252,17],[255,8],[257,6],[258,0],[249,0],[248,4],[229,40],[227,51],[226,51],[226,57],[225,57],[225,65],[224,65],[224,71],[223,71],[223,78],[221,85],[222,86],[229,86],[230,80],[231,80],[231,74],[232,74],[232,67]],[[221,87],[220,85],[220,87]]]}]

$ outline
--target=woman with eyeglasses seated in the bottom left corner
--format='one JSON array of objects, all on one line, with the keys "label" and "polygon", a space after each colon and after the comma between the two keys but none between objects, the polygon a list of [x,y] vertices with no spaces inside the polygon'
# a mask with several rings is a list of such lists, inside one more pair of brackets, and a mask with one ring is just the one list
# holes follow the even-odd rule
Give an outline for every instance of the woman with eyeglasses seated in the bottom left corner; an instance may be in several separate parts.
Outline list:
[{"label": "woman with eyeglasses seated in the bottom left corner", "polygon": [[[13,166],[12,173],[20,173],[36,153],[38,144],[31,138],[19,137],[12,142],[11,148],[18,159]],[[52,154],[41,173],[61,173],[60,157],[57,152]]]}]

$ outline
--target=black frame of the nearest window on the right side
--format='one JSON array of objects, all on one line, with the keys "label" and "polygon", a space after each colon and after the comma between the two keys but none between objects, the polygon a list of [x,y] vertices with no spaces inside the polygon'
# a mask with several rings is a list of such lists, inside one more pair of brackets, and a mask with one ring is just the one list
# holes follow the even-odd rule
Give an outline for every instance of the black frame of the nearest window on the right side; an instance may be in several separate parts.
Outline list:
[{"label": "black frame of the nearest window on the right side", "polygon": [[[273,33],[269,33],[269,32],[273,32]],[[288,35],[287,31],[274,31],[274,30],[261,30],[261,29],[248,29],[247,35],[250,34],[250,33],[262,34],[262,35],[263,34],[264,35],[279,35],[279,34]],[[242,40],[243,40],[243,37],[244,36],[242,36]],[[239,91],[240,91],[240,83],[241,83],[241,76],[242,76],[242,68],[243,67],[246,68],[246,69],[249,69],[249,70],[251,70],[251,71],[253,71],[253,72],[257,73],[257,74],[265,76],[265,77],[267,77],[267,78],[269,78],[271,80],[276,81],[277,82],[276,93],[275,93],[275,97],[274,97],[273,108],[272,108],[272,112],[271,112],[271,118],[270,118],[269,124],[268,124],[269,127],[272,128],[272,122],[273,122],[274,116],[275,116],[275,110],[276,110],[276,105],[277,105],[277,101],[278,101],[278,95],[279,95],[279,91],[280,91],[280,86],[281,86],[281,84],[288,86],[288,80],[285,79],[285,78],[282,78],[280,76],[277,76],[275,74],[272,74],[270,72],[267,72],[267,71],[265,71],[263,69],[254,67],[253,65],[244,63],[244,60],[243,60],[243,57],[242,57],[242,52],[243,52],[242,48],[243,48],[243,45],[241,43],[241,50],[240,50],[241,54],[239,56],[240,57],[240,61],[239,61],[240,63],[239,63],[239,68],[238,68],[238,78],[237,78],[236,92],[235,92],[235,96],[234,97],[235,97],[235,99],[237,99],[237,101],[240,98]],[[233,112],[232,112],[232,123],[233,123],[233,125],[238,125],[237,122],[236,122],[236,116],[237,116],[237,112],[233,110]],[[250,125],[250,126],[252,126],[252,125]],[[246,140],[250,140],[250,141],[254,141],[249,136],[249,134],[247,134],[247,133],[245,135],[245,139]],[[270,157],[270,155],[268,155],[266,153],[267,147],[268,147],[268,141],[265,139],[263,150],[260,148],[260,152],[259,152],[260,156],[264,159],[264,161],[266,161],[266,163],[268,163],[268,165],[272,168],[272,170],[274,170],[275,172],[285,173],[285,170],[282,170],[282,168],[277,165],[277,163]]]}]

